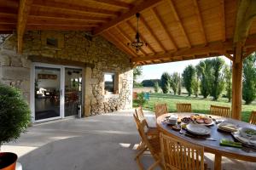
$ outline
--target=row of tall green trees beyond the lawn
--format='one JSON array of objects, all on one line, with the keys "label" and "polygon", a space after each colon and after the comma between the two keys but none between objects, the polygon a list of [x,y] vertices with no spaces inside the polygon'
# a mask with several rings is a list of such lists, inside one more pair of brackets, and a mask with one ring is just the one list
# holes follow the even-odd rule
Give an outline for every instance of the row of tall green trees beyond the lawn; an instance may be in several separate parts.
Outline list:
[{"label": "row of tall green trees beyond the lawn", "polygon": [[[221,95],[229,99],[232,97],[232,68],[226,65],[224,59],[204,59],[198,65],[188,65],[183,73],[164,72],[160,79],[143,80],[139,83],[143,87],[153,87],[158,93],[160,88],[164,94],[181,94],[182,87],[188,95],[204,99],[212,96],[218,100]],[[256,99],[256,53],[251,54],[243,61],[242,99],[249,105]]]}]

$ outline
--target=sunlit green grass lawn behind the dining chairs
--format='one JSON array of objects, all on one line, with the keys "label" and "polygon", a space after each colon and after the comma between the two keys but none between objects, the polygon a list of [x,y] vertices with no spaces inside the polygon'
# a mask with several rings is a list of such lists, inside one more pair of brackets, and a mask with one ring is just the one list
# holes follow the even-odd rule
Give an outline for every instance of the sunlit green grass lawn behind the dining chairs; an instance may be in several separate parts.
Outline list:
[{"label": "sunlit green grass lawn behind the dining chairs", "polygon": [[[218,101],[212,101],[211,98],[203,99],[201,96],[198,98],[189,97],[187,95],[173,95],[173,94],[149,94],[148,102],[143,106],[144,110],[154,111],[154,104],[156,103],[167,103],[168,111],[175,112],[177,103],[190,103],[192,105],[193,112],[209,114],[210,105],[230,106],[231,103],[228,99],[221,98]],[[136,101],[133,102],[133,106],[137,107]],[[241,106],[241,119],[242,121],[248,122],[252,111],[256,111],[256,102],[254,101],[251,105]]]}]

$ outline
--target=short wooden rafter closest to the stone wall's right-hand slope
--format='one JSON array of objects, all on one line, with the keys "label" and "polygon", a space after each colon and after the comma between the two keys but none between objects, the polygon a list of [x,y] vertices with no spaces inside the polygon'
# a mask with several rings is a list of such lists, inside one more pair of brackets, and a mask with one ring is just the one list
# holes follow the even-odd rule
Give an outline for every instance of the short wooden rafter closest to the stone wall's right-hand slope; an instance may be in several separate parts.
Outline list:
[{"label": "short wooden rafter closest to the stone wall's right-hand slope", "polygon": [[113,44],[116,45],[120,50],[124,51],[126,54],[131,55],[132,57],[137,56],[137,53],[135,53],[133,50],[131,50],[124,44],[119,43],[119,39],[114,37],[111,33],[109,33],[108,31],[104,31],[104,34],[107,35],[107,37],[108,37],[107,39],[110,42],[113,42]]}]

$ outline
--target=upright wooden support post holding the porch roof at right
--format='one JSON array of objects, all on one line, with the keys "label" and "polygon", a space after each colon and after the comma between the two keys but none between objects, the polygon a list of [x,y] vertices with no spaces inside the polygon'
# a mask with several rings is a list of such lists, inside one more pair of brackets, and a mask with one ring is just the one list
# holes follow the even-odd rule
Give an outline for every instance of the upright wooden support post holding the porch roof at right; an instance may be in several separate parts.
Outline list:
[{"label": "upright wooden support post holding the porch roof at right", "polygon": [[[241,120],[242,53],[237,52],[241,52],[241,49],[236,49],[236,56],[232,65],[232,118]],[[237,60],[240,62],[236,62]]]}]

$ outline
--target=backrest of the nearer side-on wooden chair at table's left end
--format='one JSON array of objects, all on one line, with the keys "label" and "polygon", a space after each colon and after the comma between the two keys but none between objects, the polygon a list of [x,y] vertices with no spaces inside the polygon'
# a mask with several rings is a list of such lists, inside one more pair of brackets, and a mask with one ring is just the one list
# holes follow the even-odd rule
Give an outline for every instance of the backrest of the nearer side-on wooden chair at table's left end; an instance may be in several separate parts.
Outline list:
[{"label": "backrest of the nearer side-on wooden chair at table's left end", "polygon": [[135,120],[136,125],[137,125],[137,131],[140,134],[143,143],[145,143],[147,145],[148,150],[152,154],[156,153],[157,151],[154,150],[154,147],[152,147],[152,145],[148,141],[148,137],[147,137],[147,134],[146,134],[147,131],[148,131],[147,122],[145,120],[140,121],[135,114],[133,114],[133,117],[134,117],[134,120]]}]

